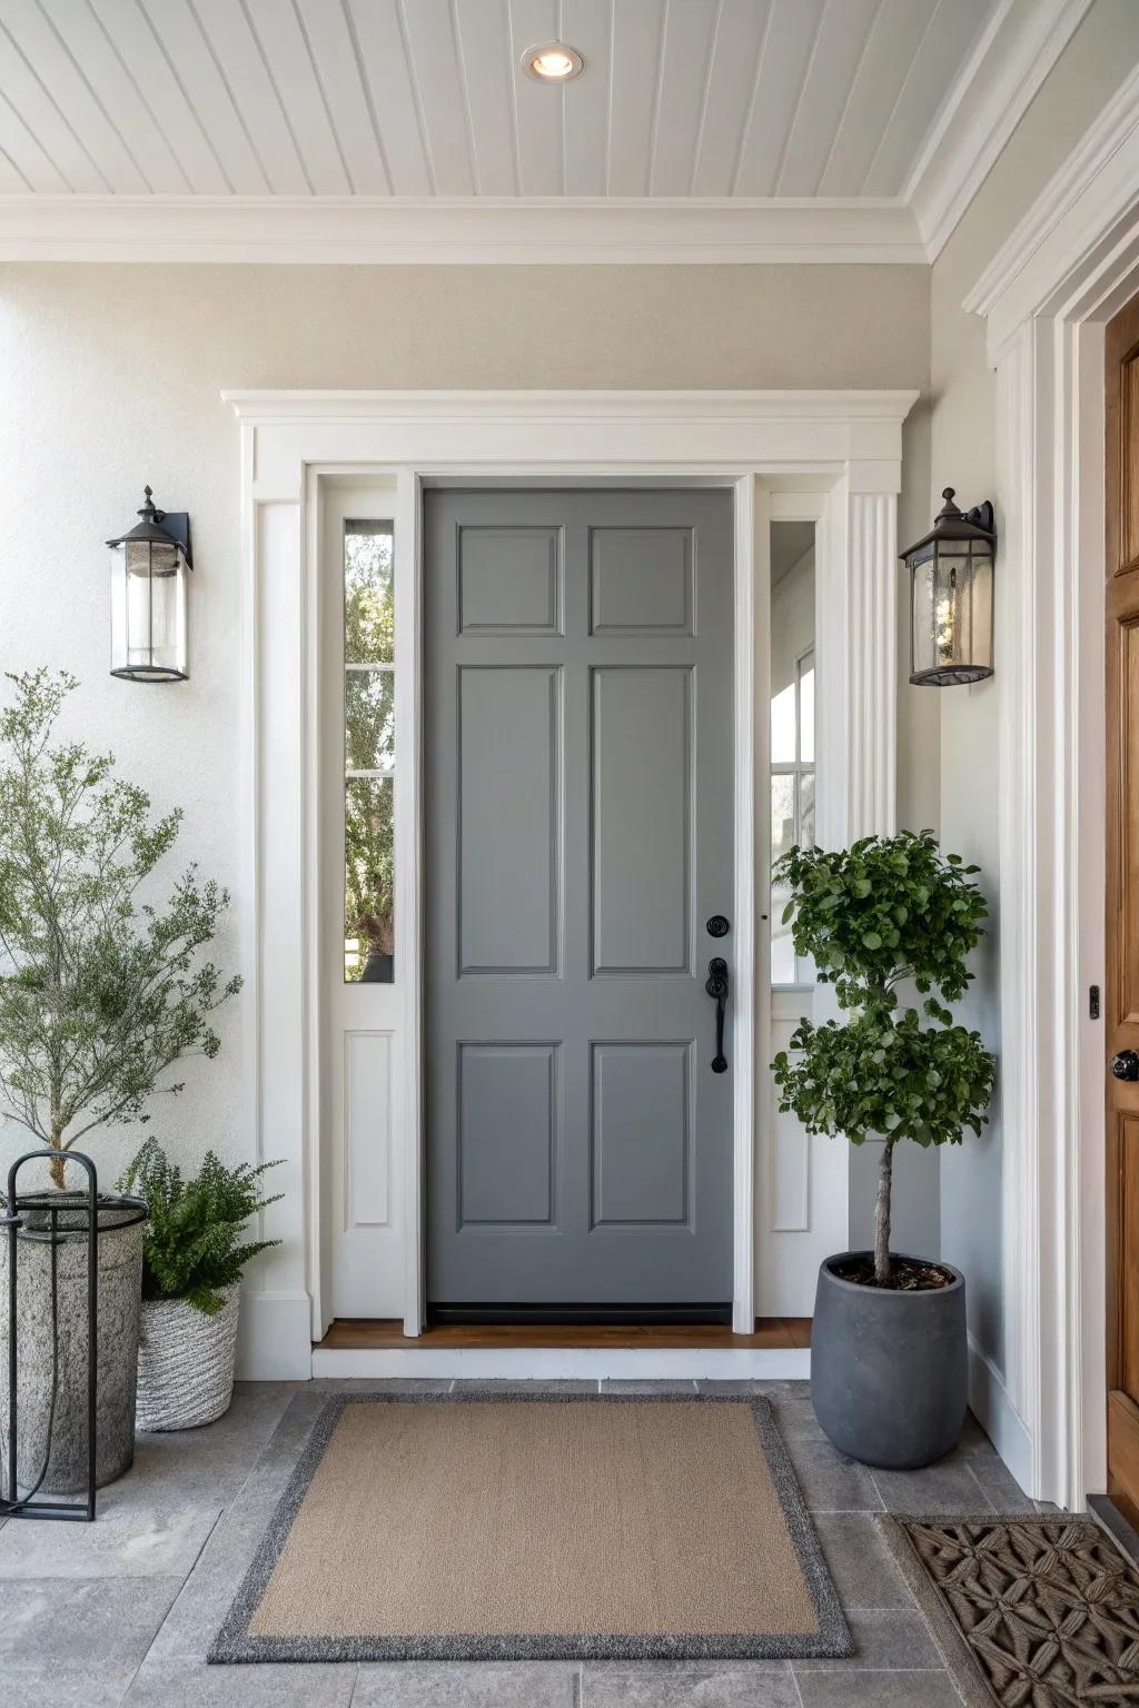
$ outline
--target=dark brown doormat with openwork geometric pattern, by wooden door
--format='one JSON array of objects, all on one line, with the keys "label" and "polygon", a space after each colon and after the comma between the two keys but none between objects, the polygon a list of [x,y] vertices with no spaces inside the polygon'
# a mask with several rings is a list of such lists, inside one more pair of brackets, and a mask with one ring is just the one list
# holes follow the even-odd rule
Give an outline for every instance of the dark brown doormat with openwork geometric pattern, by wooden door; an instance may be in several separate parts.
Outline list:
[{"label": "dark brown doormat with openwork geometric pattern, by wooden door", "polygon": [[967,1708],[1136,1708],[1139,1576],[1089,1518],[878,1524]]}]

